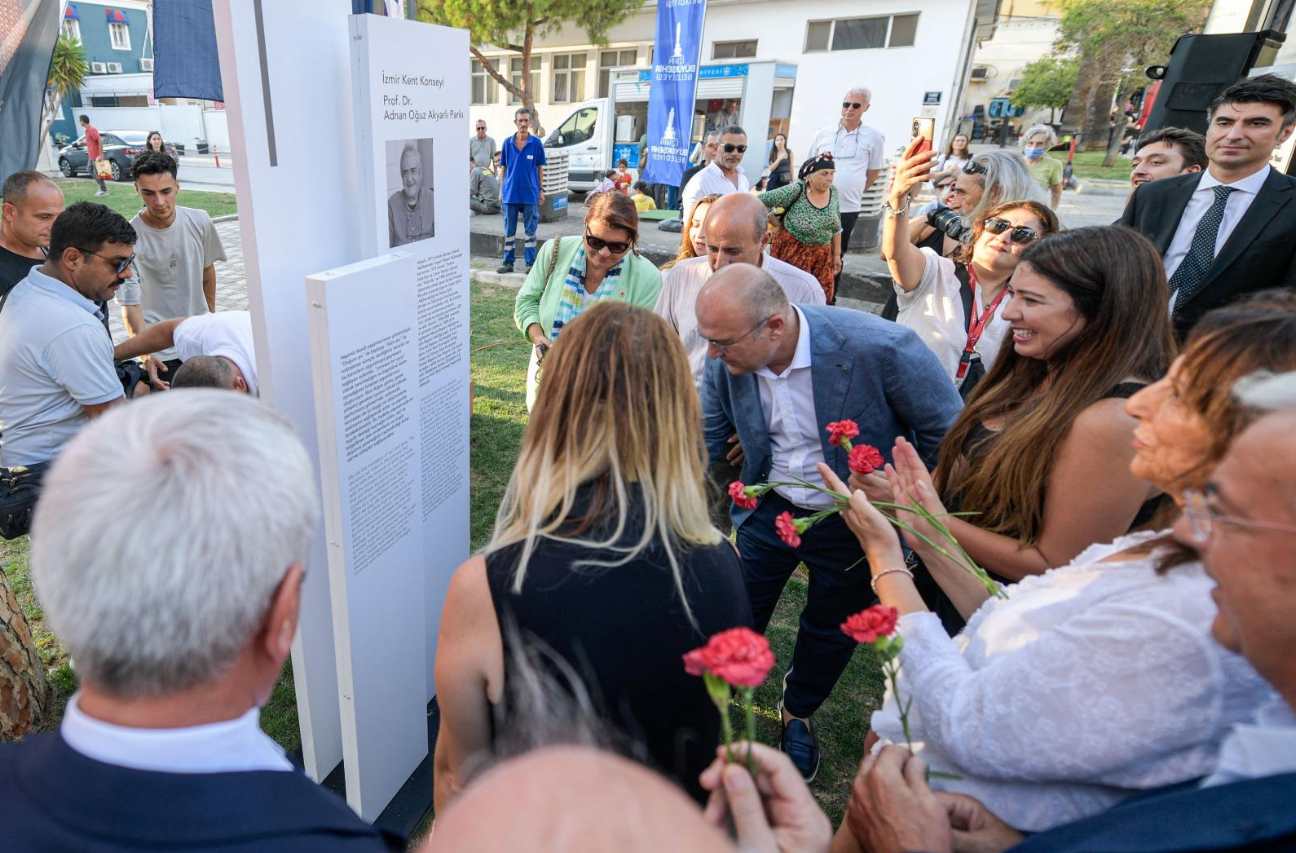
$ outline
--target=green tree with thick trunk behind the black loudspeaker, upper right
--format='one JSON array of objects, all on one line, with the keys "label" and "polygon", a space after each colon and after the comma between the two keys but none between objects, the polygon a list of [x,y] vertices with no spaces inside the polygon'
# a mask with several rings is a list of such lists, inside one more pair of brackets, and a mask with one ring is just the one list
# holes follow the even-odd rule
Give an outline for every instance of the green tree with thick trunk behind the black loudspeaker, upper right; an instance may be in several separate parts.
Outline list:
[{"label": "green tree with thick trunk behind the black loudspeaker, upper right", "polygon": [[[1175,39],[1198,32],[1210,0],[1058,0],[1059,44],[1100,69],[1082,124],[1086,150],[1107,148],[1103,166],[1116,163],[1125,123],[1120,110],[1139,86],[1143,70],[1163,65]],[[1109,134],[1113,104],[1116,132]],[[1108,134],[1111,141],[1108,141]]]}]

